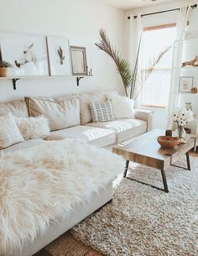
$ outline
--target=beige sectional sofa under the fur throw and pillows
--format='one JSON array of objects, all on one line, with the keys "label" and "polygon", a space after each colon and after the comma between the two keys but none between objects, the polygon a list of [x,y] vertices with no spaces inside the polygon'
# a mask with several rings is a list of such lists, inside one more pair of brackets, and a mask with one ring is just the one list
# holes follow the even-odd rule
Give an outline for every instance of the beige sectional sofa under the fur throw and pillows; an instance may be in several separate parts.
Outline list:
[{"label": "beige sectional sofa under the fur throw and pillows", "polygon": [[[102,91],[100,93],[93,94],[81,94],[77,96],[63,96],[55,97],[54,99],[44,98],[44,102],[36,102],[38,105],[35,107],[35,101],[40,98],[26,99],[26,101],[15,101],[0,104],[0,116],[8,112],[12,112],[15,117],[28,118],[31,116],[38,116],[39,114],[44,114],[49,118],[48,115],[53,116],[53,122],[50,123],[51,127],[53,125],[57,128],[59,119],[57,121],[55,118],[70,117],[70,120],[65,123],[60,122],[61,129],[53,130],[51,128],[50,136],[47,138],[49,140],[56,140],[62,138],[76,138],[86,141],[88,144],[95,145],[96,147],[111,148],[113,144],[117,144],[126,139],[131,139],[139,134],[146,133],[152,128],[152,116],[153,113],[150,111],[134,110],[133,119],[118,119],[107,123],[91,123],[91,112],[88,107],[88,103],[91,101],[106,101],[107,94],[112,92]],[[114,92],[115,93],[115,92]],[[72,97],[75,97],[76,102],[72,102]],[[32,101],[32,102],[31,102]],[[66,110],[59,109],[59,113],[55,113],[55,107],[52,105],[55,103],[56,107],[59,106],[59,102],[68,103],[69,107],[65,107]],[[70,102],[71,101],[71,102]],[[52,105],[49,105],[52,104]],[[62,104],[62,103],[61,103]],[[60,104],[60,105],[61,105]],[[48,106],[49,105],[49,106]],[[64,105],[65,106],[65,105]],[[42,107],[45,109],[42,110]],[[48,109],[49,107],[49,109]],[[52,107],[52,108],[50,108]],[[74,109],[72,109],[74,107]],[[31,109],[30,109],[31,108]],[[37,108],[37,109],[36,109]],[[43,112],[42,112],[43,111]],[[66,114],[65,114],[66,111]],[[46,113],[47,112],[47,113]],[[78,115],[79,112],[79,116]],[[77,114],[76,114],[77,113]],[[65,125],[64,125],[65,124]],[[65,126],[65,128],[62,128]],[[14,144],[7,149],[3,149],[4,152],[13,152],[18,149],[29,149],[39,144],[47,144],[46,140],[42,139],[31,139],[26,140],[19,144]],[[105,188],[102,189],[100,194],[94,194],[91,200],[86,203],[81,203],[81,205],[76,206],[73,211],[70,212],[70,217],[61,222],[51,223],[50,227],[44,234],[38,235],[38,238],[34,242],[28,241],[26,246],[23,248],[22,252],[8,252],[7,256],[29,256],[33,253],[38,252],[45,245],[58,238],[62,233],[66,232],[70,227],[76,225],[76,223],[81,222],[83,218],[90,215],[91,212],[96,211],[99,207],[107,203],[112,199],[112,182],[107,184]]]}]

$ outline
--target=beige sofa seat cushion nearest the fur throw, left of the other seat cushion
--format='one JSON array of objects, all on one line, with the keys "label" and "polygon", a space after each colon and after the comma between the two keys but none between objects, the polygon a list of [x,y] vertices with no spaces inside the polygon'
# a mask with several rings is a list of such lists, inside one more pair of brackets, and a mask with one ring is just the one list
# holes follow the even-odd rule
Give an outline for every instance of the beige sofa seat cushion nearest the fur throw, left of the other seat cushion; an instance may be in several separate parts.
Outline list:
[{"label": "beige sofa seat cushion nearest the fur throw, left of the other seat cushion", "polygon": [[56,138],[81,139],[97,147],[105,147],[107,145],[115,144],[116,134],[114,131],[109,129],[78,125],[72,128],[51,132],[49,139],[56,140]]}]

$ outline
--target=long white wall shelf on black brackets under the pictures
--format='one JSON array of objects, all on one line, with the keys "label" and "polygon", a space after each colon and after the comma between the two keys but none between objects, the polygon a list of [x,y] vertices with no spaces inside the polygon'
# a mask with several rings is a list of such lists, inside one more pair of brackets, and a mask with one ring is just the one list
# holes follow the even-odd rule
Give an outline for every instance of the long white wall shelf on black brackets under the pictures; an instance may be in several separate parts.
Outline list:
[{"label": "long white wall shelf on black brackets under the pictures", "polygon": [[0,80],[12,80],[13,81],[13,90],[17,90],[17,81],[22,79],[51,79],[51,78],[76,78],[76,85],[80,85],[80,80],[84,77],[90,76],[7,76],[7,77],[0,77]]}]

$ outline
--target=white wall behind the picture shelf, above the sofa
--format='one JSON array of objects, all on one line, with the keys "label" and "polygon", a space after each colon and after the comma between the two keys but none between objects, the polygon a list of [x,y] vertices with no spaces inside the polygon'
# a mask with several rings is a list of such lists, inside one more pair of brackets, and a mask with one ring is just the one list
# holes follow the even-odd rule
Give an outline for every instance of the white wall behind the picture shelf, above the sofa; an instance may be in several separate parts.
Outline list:
[{"label": "white wall behind the picture shelf, above the sofa", "polygon": [[0,80],[0,102],[27,95],[50,96],[62,93],[80,93],[118,88],[122,82],[112,60],[95,43],[99,29],[106,29],[112,43],[122,53],[124,13],[122,10],[93,0],[0,0],[0,30],[28,34],[63,35],[70,44],[86,46],[88,65],[92,62],[94,76],[81,80],[74,78],[43,78],[18,81],[13,91],[12,81]]}]

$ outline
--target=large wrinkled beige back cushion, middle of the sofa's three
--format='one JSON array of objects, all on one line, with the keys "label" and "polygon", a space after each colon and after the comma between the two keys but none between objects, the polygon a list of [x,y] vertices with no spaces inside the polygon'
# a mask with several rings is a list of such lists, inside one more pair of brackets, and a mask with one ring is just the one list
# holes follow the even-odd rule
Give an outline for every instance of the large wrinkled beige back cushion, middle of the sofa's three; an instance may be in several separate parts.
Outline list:
[{"label": "large wrinkled beige back cushion, middle of the sofa's three", "polygon": [[49,98],[26,97],[29,115],[48,118],[50,131],[80,124],[80,102],[78,97]]}]

